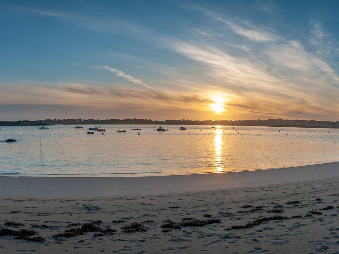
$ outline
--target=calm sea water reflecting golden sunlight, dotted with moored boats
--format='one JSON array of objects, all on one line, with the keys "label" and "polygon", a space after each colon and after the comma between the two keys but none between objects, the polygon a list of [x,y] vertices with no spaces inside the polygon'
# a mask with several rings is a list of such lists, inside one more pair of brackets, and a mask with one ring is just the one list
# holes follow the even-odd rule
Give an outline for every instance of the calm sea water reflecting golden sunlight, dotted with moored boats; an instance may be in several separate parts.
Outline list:
[{"label": "calm sea water reflecting golden sunlight, dotted with moored boats", "polygon": [[[86,134],[94,126],[48,127],[40,142],[38,126],[2,126],[0,175],[163,176],[339,161],[338,129],[167,125],[162,132],[151,125],[107,125],[105,132]],[[17,142],[4,142],[8,138]]]}]

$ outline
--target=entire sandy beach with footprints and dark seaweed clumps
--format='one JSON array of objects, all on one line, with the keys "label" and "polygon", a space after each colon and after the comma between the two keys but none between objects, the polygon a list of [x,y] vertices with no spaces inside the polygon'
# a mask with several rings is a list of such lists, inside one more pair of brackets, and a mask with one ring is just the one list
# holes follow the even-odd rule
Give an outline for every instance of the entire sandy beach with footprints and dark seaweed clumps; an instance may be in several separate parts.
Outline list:
[{"label": "entire sandy beach with footprints and dark seaweed clumps", "polygon": [[0,177],[1,253],[339,253],[339,162],[129,178]]}]

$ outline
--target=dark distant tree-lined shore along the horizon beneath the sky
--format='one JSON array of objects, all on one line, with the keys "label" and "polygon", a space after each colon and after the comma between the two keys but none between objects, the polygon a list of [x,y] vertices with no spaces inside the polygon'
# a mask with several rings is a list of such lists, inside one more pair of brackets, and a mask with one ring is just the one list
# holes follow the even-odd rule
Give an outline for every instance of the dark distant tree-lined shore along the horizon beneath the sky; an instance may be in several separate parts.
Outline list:
[{"label": "dark distant tree-lined shore along the horizon beneath the sky", "polygon": [[[0,122],[1,126],[20,126],[20,125],[55,125],[55,124],[75,124],[76,119],[45,119],[38,121],[16,121],[16,122]],[[267,119],[267,120],[165,120],[153,121],[151,119],[78,119],[79,125],[107,125],[107,124],[153,124],[153,125],[231,125],[231,126],[273,126],[273,127],[305,127],[305,128],[339,128],[339,122],[315,121],[315,120],[283,120],[283,119]]]}]

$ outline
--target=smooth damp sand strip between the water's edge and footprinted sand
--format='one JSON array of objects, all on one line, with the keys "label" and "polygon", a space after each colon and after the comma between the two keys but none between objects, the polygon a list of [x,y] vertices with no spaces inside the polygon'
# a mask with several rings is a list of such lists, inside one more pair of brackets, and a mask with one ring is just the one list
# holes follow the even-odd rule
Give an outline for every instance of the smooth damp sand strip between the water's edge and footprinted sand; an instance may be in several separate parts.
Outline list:
[{"label": "smooth damp sand strip between the water's edge and footprinted sand", "polygon": [[0,197],[111,197],[253,188],[339,177],[338,168],[339,162],[332,162],[267,170],[178,176],[93,178],[0,176]]}]

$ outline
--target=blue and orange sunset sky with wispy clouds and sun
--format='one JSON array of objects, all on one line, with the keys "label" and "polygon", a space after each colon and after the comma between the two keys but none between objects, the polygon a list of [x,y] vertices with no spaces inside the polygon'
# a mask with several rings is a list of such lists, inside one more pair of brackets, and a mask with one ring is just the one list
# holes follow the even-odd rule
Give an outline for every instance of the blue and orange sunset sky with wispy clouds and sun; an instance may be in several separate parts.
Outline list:
[{"label": "blue and orange sunset sky with wispy clouds and sun", "polygon": [[339,2],[0,1],[0,121],[339,121]]}]

